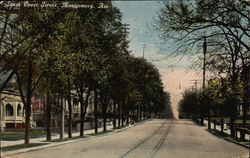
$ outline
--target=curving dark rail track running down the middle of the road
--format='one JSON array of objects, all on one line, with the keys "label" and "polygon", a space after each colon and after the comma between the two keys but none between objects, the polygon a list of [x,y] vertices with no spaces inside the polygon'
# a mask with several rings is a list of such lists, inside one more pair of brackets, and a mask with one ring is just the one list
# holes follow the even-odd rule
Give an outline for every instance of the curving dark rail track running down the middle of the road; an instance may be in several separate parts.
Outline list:
[{"label": "curving dark rail track running down the middle of the road", "polygon": [[171,128],[171,123],[172,121],[164,120],[161,126],[151,135],[136,143],[119,158],[153,158],[166,139]]}]

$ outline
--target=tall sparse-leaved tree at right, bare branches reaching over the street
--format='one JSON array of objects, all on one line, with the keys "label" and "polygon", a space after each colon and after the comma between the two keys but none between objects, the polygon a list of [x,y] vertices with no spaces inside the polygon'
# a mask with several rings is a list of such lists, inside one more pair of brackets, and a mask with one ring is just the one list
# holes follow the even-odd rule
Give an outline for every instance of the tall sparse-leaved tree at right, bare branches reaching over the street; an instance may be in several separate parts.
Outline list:
[{"label": "tall sparse-leaved tree at right, bare branches reaching over the street", "polygon": [[[156,28],[163,32],[164,40],[172,39],[178,42],[178,52],[195,54],[199,51],[200,41],[205,37],[209,46],[210,61],[207,66],[216,65],[215,69],[221,73],[227,70],[226,76],[234,94],[230,97],[232,104],[230,127],[234,136],[233,126],[237,117],[238,76],[242,71],[241,56],[248,56],[250,35],[249,7],[247,1],[176,1],[164,3]],[[194,48],[194,49],[192,49]],[[198,51],[197,51],[198,49]],[[191,51],[190,51],[191,50]],[[213,56],[213,57],[211,57]],[[226,68],[226,69],[225,69]],[[223,70],[224,69],[224,70]],[[225,75],[225,74],[223,74]]]}]

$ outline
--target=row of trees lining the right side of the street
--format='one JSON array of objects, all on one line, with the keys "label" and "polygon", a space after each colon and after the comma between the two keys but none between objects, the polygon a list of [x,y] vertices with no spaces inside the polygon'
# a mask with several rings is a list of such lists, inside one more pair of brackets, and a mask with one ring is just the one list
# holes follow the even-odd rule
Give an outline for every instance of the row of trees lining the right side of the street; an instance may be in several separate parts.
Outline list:
[{"label": "row of trees lining the right side of the street", "polygon": [[[186,91],[179,103],[181,113],[208,119],[230,119],[231,137],[235,121],[243,129],[249,122],[250,2],[246,0],[176,0],[164,2],[156,28],[166,42],[176,42],[173,55],[199,56],[195,64],[212,78],[202,90]],[[199,55],[203,46],[203,55]],[[242,107],[243,114],[239,115]],[[247,130],[241,130],[241,137]]]}]

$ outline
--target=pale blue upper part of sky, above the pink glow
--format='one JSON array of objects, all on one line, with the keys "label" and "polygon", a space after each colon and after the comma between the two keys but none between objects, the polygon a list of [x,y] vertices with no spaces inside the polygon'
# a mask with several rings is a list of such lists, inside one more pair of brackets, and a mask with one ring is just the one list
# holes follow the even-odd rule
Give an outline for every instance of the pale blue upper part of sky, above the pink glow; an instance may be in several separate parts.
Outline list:
[{"label": "pale blue upper part of sky, above the pink glow", "polygon": [[162,6],[161,1],[113,1],[112,3],[123,14],[123,23],[130,24],[129,48],[134,56],[142,57],[142,45],[145,43],[145,58],[159,69],[165,69],[171,64],[175,64],[175,68],[178,69],[187,68],[186,60],[180,63],[178,59],[163,60],[166,56],[159,53],[160,47],[168,47],[166,44],[159,44],[158,32],[153,29],[154,19]]}]

